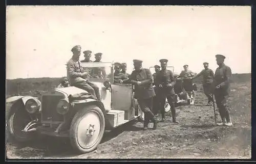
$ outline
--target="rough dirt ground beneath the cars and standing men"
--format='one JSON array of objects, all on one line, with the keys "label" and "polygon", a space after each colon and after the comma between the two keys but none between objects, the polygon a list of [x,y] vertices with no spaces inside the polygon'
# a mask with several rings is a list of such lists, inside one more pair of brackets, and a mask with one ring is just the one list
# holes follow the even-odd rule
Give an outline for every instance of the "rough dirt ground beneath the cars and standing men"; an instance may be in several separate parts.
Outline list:
[{"label": "rough dirt ground beneath the cars and standing men", "polygon": [[206,103],[200,85],[195,105],[177,107],[179,124],[172,123],[170,113],[156,130],[143,131],[143,123],[133,121],[106,131],[97,149],[82,155],[68,139],[7,143],[7,158],[251,158],[251,83],[231,84],[232,127],[216,126],[213,107]]}]

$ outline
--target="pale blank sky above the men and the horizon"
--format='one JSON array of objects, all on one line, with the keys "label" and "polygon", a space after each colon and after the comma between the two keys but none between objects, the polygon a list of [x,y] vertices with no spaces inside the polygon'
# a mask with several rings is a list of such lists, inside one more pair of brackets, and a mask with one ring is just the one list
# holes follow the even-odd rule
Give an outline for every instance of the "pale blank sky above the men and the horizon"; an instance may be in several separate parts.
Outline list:
[{"label": "pale blank sky above the men and the horizon", "polygon": [[6,31],[7,79],[66,76],[75,45],[128,73],[133,59],[215,71],[215,54],[232,73],[251,72],[250,6],[7,6]]}]

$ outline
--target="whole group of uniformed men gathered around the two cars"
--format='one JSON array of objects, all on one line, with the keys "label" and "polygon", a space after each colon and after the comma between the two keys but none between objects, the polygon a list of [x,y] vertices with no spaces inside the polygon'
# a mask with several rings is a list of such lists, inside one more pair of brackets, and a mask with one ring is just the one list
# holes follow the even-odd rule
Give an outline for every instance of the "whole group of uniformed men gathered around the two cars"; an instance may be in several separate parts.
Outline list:
[{"label": "whole group of uniformed men gathered around the two cars", "polygon": [[[81,46],[74,46],[71,51],[73,52],[72,58],[67,64],[67,75],[71,86],[81,88],[88,91],[95,99],[100,99],[99,88],[94,85],[87,78],[94,73],[99,76],[105,77],[105,71],[103,68],[85,68],[83,70],[81,62],[92,62],[90,60],[92,51],[83,51],[85,59],[79,61],[79,56],[81,52]],[[102,53],[95,54],[94,62],[101,62]],[[133,60],[134,71],[131,75],[126,73],[125,63],[115,63],[114,64],[114,83],[130,83],[134,86],[134,97],[138,100],[141,110],[144,112],[144,126],[143,129],[146,130],[148,123],[153,122],[153,129],[157,127],[156,114],[161,111],[162,121],[165,121],[164,116],[164,105],[165,99],[167,99],[170,104],[172,111],[172,118],[174,123],[179,123],[176,119],[176,108],[175,108],[175,91],[174,86],[178,78],[194,79],[198,76],[203,76],[203,89],[205,95],[208,97],[208,105],[214,101],[213,95],[215,95],[216,103],[219,108],[220,116],[222,119],[221,123],[218,125],[232,126],[229,111],[227,109],[227,97],[229,94],[229,80],[231,78],[231,69],[224,64],[225,57],[221,54],[216,55],[216,61],[219,67],[214,72],[208,68],[208,63],[203,63],[204,70],[199,74],[193,73],[188,70],[188,65],[184,65],[184,70],[177,76],[171,70],[168,70],[167,59],[161,59],[160,66],[156,65],[156,73],[152,76],[150,69],[142,67],[141,60]],[[161,68],[161,70],[160,70]],[[154,81],[153,81],[154,80]],[[153,87],[155,85],[155,87]],[[184,84],[184,86],[186,86]],[[153,110],[153,98],[156,98],[154,103],[157,110]]]}]

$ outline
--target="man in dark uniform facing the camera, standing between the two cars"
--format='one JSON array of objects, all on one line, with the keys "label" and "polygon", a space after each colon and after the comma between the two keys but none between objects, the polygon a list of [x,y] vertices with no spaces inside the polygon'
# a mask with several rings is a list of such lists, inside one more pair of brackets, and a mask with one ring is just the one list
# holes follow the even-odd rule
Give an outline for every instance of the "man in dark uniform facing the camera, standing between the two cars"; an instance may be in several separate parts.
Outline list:
[{"label": "man in dark uniform facing the camera, standing between the two cars", "polygon": [[159,60],[161,63],[161,70],[156,75],[156,87],[159,90],[159,101],[160,101],[160,110],[162,114],[162,121],[165,121],[165,99],[167,98],[168,103],[170,104],[170,108],[172,111],[172,117],[174,123],[179,123],[176,120],[176,109],[175,109],[175,92],[174,92],[174,85],[175,85],[175,78],[172,71],[167,70],[167,59]]}]

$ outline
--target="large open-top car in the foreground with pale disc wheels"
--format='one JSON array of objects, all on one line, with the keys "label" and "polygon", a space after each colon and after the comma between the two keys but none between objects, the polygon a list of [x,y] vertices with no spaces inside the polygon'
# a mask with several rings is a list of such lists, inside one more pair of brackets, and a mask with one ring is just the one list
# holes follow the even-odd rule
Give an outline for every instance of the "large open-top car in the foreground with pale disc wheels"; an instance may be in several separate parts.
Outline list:
[{"label": "large open-top car in the foreground with pale disc wheels", "polygon": [[[15,96],[6,100],[7,130],[18,141],[33,133],[70,138],[75,150],[87,153],[100,143],[104,130],[143,117],[131,84],[113,84],[113,63],[82,63],[83,67],[104,67],[110,78],[88,78],[99,87],[101,101],[93,98],[70,100],[86,94],[74,86],[55,88],[41,99]],[[142,118],[143,119],[143,118]]]}]

